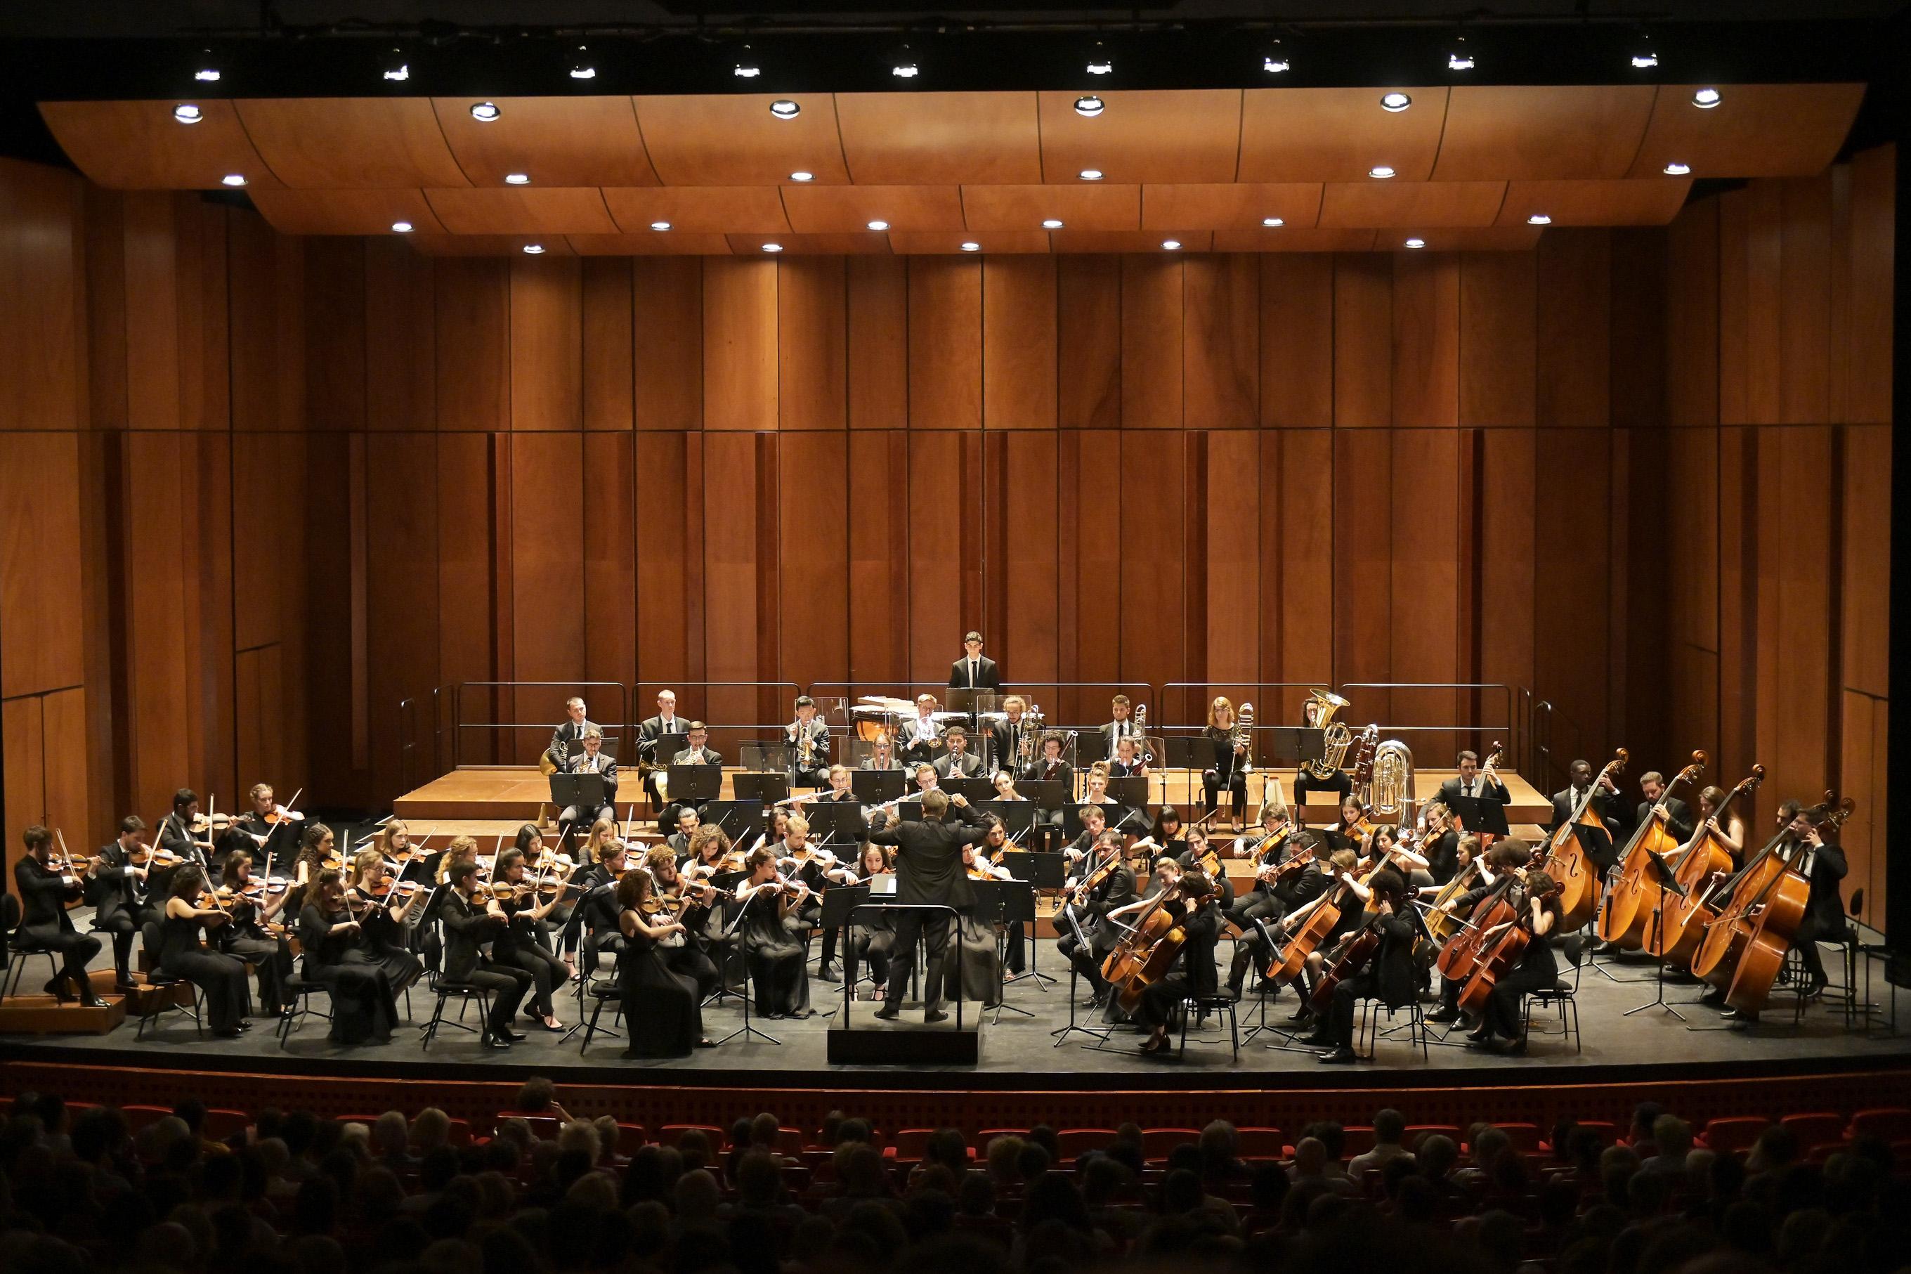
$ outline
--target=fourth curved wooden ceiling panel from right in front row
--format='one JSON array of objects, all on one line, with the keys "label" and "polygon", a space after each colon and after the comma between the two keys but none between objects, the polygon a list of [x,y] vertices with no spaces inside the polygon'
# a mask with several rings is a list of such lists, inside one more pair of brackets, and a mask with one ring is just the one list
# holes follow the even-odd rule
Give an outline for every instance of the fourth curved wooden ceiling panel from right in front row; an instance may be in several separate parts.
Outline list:
[{"label": "fourth curved wooden ceiling panel from right in front row", "polygon": [[1240,90],[1126,90],[1097,94],[1099,115],[1074,109],[1076,90],[1043,92],[1041,180],[1233,181],[1240,153]]}]

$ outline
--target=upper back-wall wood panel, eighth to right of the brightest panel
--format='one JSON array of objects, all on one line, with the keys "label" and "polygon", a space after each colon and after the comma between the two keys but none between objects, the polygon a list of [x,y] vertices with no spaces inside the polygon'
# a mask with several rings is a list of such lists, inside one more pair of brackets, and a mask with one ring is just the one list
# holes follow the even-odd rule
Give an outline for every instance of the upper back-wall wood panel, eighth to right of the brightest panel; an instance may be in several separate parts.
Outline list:
[{"label": "upper back-wall wood panel, eighth to right of the brightest panel", "polygon": [[1261,258],[1261,426],[1334,422],[1334,258]]}]

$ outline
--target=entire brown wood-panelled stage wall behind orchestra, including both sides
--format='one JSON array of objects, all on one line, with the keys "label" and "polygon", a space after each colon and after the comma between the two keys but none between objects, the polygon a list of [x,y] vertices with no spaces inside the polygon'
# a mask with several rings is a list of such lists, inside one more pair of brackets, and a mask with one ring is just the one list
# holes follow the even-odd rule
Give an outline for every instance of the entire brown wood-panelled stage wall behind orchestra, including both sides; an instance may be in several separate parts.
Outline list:
[{"label": "entire brown wood-panelled stage wall behind orchestra, including both sides", "polygon": [[1525,684],[1559,764],[1840,783],[1882,903],[1892,162],[1533,254],[982,260],[432,260],[4,164],[8,850],[390,800],[440,684],[940,680],[980,626],[1022,680]]}]

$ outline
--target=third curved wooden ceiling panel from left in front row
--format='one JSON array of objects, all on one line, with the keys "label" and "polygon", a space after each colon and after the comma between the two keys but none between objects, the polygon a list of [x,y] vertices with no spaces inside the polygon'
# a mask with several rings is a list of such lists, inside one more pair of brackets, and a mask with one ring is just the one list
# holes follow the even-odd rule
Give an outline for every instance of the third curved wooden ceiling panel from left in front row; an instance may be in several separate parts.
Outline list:
[{"label": "third curved wooden ceiling panel from left in front row", "polygon": [[[497,118],[472,118],[480,101]],[[657,183],[629,97],[432,97],[432,111],[472,185],[506,172],[556,187]]]}]

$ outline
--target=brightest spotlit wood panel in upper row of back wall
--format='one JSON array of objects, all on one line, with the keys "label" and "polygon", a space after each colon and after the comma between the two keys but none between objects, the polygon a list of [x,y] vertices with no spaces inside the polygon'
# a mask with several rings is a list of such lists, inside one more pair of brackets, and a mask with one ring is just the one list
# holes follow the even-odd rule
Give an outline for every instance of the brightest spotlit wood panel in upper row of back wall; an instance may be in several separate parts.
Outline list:
[{"label": "brightest spotlit wood panel in upper row of back wall", "polygon": [[776,262],[705,258],[703,428],[774,430],[776,418]]}]

